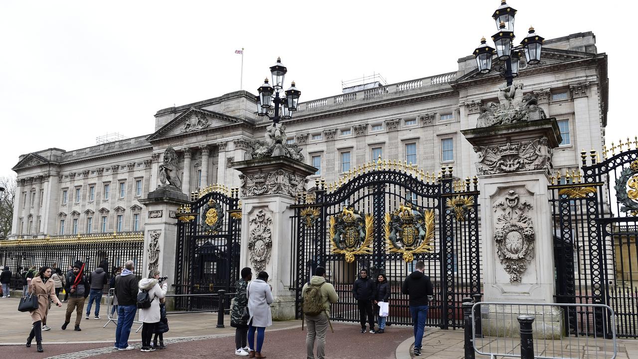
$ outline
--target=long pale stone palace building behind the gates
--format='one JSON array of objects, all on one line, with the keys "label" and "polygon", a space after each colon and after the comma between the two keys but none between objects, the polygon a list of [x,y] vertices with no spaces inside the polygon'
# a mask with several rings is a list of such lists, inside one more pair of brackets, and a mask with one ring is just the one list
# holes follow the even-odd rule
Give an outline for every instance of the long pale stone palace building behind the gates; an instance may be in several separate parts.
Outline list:
[{"label": "long pale stone palace building behind the gates", "polygon": [[[563,142],[554,168],[577,169],[581,149],[602,152],[604,145],[607,56],[597,53],[588,32],[546,40],[542,60],[522,61],[517,80],[558,120]],[[337,181],[379,157],[430,174],[453,166],[454,176],[474,176],[477,155],[460,130],[475,128],[482,106],[498,102],[503,79],[496,71],[478,73],[472,56],[457,62],[455,72],[300,103],[285,125],[288,142],[297,142],[306,164],[318,169],[309,190],[313,178]],[[11,238],[142,231],[148,213],[138,200],[158,187],[165,149],[179,154],[182,192],[212,183],[239,187],[232,162],[246,158],[269,124],[256,116],[255,95],[247,91],[161,109],[155,118],[150,135],[21,155],[13,167]]]}]

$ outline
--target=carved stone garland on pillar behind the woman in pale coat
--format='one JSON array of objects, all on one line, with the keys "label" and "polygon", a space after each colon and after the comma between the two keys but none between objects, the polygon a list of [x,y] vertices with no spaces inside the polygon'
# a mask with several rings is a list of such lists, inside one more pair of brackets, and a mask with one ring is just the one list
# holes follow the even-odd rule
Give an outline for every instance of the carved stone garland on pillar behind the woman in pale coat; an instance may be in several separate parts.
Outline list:
[{"label": "carved stone garland on pillar behind the woman in pale coat", "polygon": [[248,253],[256,272],[262,271],[271,260],[272,217],[263,210],[257,211],[250,220]]}]

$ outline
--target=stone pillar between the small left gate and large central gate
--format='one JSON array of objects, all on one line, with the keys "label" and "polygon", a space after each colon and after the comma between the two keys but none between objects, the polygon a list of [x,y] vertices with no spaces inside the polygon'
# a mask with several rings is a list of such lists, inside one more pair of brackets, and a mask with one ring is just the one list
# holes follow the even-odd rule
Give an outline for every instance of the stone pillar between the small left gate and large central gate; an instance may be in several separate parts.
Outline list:
[{"label": "stone pillar between the small left gate and large central gate", "polygon": [[266,157],[234,163],[242,180],[242,240],[240,267],[267,271],[274,302],[272,319],[295,317],[295,293],[290,278],[290,208],[304,191],[315,167],[288,157]]}]

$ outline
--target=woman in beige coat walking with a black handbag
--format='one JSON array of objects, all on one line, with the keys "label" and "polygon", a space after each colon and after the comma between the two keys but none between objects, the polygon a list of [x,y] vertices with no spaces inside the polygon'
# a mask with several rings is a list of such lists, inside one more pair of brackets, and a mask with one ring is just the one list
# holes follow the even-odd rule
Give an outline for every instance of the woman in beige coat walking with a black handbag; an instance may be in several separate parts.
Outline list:
[{"label": "woman in beige coat walking with a black handbag", "polygon": [[51,279],[51,267],[43,266],[38,271],[33,279],[29,281],[29,293],[31,295],[38,296],[38,309],[31,310],[31,321],[33,321],[33,328],[27,338],[27,348],[31,347],[31,340],[33,337],[38,343],[38,352],[42,353],[42,321],[47,319],[48,303],[52,300],[58,307],[62,307],[62,303],[56,296],[56,287]]}]

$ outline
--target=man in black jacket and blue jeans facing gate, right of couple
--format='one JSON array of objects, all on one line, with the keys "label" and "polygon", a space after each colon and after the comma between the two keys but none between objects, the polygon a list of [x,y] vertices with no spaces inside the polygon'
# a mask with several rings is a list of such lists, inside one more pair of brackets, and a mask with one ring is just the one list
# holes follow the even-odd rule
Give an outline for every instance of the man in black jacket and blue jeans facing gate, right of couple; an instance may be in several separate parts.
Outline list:
[{"label": "man in black jacket and blue jeans facing gate, right of couple", "polygon": [[423,272],[426,265],[419,261],[414,266],[415,271],[410,273],[401,286],[401,293],[410,297],[410,314],[414,325],[414,355],[421,355],[421,342],[426,326],[427,303],[434,295],[432,282]]}]

